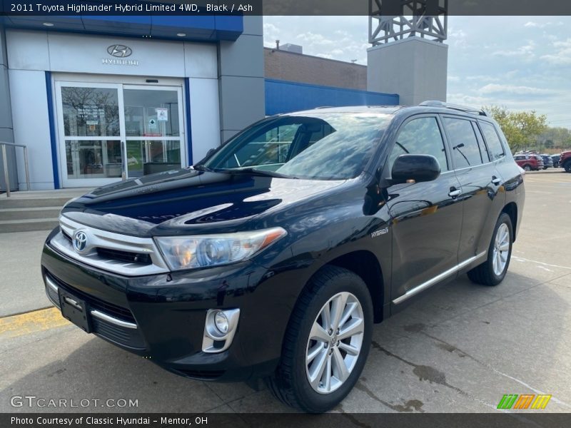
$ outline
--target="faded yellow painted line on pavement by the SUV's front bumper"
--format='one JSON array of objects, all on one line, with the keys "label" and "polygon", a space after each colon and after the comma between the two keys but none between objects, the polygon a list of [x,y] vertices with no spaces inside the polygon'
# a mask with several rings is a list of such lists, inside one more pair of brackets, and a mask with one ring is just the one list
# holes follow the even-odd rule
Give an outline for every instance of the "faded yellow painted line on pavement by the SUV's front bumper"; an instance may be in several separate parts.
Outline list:
[{"label": "faded yellow painted line on pavement by the SUV's front bumper", "polygon": [[18,337],[69,325],[56,307],[0,318],[0,338]]}]

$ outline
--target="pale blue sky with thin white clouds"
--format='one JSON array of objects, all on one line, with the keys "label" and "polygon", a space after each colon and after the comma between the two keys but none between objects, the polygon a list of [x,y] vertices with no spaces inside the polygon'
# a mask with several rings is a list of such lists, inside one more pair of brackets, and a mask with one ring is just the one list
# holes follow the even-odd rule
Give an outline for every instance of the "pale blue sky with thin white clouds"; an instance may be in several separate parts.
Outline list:
[{"label": "pale blue sky with thin white clouds", "polygon": [[[571,128],[571,16],[449,16],[448,99]],[[264,46],[366,65],[368,16],[264,16]]]}]

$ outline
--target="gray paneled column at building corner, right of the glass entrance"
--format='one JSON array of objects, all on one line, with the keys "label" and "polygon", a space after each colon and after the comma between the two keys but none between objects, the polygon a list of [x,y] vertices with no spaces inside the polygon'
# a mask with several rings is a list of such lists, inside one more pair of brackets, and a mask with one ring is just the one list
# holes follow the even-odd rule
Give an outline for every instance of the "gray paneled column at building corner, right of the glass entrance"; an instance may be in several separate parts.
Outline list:
[{"label": "gray paneled column at building corner, right of the glass entrance", "polygon": [[221,141],[266,114],[261,16],[244,16],[236,41],[218,44]]}]

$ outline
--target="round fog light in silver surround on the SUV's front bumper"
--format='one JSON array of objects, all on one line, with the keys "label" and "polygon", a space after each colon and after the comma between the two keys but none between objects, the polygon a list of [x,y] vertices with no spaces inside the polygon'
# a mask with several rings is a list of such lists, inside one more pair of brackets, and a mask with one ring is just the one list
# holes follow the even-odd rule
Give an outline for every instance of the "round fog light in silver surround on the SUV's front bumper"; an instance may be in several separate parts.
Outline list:
[{"label": "round fog light in silver surround on the SUV's front bumper", "polygon": [[211,309],[206,312],[203,352],[223,352],[230,347],[238,327],[239,309]]}]

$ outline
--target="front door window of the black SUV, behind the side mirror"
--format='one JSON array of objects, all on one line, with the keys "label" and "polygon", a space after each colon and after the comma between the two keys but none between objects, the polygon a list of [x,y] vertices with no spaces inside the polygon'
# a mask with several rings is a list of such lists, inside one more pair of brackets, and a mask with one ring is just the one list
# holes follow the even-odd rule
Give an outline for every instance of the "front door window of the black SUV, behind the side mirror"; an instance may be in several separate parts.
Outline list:
[{"label": "front door window of the black SUV, behind the side mirror", "polygon": [[436,118],[413,119],[400,129],[388,159],[389,170],[392,170],[395,159],[405,154],[432,155],[440,163],[440,170],[450,169]]}]

